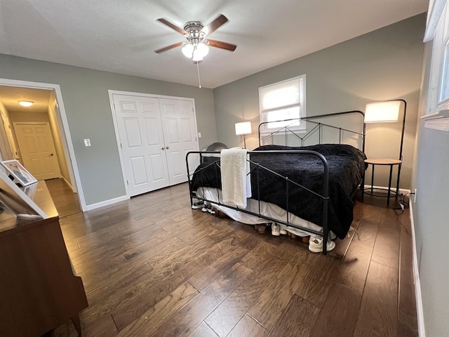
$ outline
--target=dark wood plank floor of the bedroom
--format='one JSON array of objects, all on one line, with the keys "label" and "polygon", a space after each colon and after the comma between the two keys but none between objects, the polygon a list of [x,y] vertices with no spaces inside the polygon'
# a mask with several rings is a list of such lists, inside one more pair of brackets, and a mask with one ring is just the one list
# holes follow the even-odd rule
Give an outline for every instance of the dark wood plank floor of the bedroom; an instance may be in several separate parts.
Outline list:
[{"label": "dark wood plank floor of the bedroom", "polygon": [[[354,230],[323,256],[192,210],[187,194],[61,218],[84,336],[417,336],[408,209],[357,201]],[[76,336],[72,323],[55,336]]]}]

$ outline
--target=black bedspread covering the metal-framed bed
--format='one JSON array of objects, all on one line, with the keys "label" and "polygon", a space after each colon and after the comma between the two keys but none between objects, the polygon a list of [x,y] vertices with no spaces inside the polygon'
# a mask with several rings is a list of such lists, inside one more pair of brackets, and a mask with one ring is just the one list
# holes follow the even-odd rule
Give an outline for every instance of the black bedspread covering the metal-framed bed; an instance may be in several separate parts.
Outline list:
[{"label": "black bedspread covering the metal-framed bed", "polygon": [[[318,194],[323,193],[323,164],[313,154],[274,154],[266,150],[312,150],[323,154],[329,164],[329,206],[328,225],[337,237],[343,239],[353,219],[354,204],[351,194],[361,183],[366,165],[365,154],[351,145],[321,144],[305,147],[265,145],[257,147],[250,154],[251,161],[267,167],[289,180],[307,187]],[[220,164],[218,162],[218,164]],[[209,166],[208,166],[209,165]],[[208,167],[206,167],[208,166]],[[253,199],[271,202],[289,212],[322,225],[322,199],[302,187],[288,183],[288,202],[286,180],[264,169],[255,169],[251,164],[251,190]],[[258,177],[258,182],[257,182]],[[220,167],[201,164],[192,177],[192,190],[198,187],[219,187]]]}]

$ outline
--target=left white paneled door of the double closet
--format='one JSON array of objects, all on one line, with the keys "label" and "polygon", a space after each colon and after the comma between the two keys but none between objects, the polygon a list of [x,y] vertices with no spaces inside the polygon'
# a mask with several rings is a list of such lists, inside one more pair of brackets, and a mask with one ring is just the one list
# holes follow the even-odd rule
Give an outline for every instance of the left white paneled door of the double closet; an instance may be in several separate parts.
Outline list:
[{"label": "left white paneled door of the double closet", "polygon": [[113,100],[128,194],[132,197],[170,185],[159,100],[116,94]]}]

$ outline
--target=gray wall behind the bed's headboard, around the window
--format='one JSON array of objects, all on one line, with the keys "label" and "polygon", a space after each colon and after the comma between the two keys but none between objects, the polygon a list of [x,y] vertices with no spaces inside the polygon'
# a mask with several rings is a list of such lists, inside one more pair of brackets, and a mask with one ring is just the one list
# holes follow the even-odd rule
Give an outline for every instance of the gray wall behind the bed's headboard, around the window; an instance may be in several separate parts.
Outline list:
[{"label": "gray wall behind the bed's headboard, around the window", "polygon": [[[307,114],[365,110],[366,103],[403,98],[408,103],[401,187],[410,188],[426,16],[417,15],[361,37],[264,70],[214,89],[218,141],[243,146],[234,124],[251,121],[246,137],[252,150],[259,123],[258,88],[307,74]],[[368,157],[398,158],[401,123],[367,127]],[[387,185],[387,171],[377,170],[375,185]],[[370,173],[368,173],[370,174]]]}]

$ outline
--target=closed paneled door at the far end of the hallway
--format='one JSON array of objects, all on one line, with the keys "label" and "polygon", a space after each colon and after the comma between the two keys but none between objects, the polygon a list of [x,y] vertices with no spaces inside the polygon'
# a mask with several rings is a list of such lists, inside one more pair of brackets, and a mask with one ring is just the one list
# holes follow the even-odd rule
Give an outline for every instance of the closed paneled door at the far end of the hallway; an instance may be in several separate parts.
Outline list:
[{"label": "closed paneled door at the far end of the hallway", "polygon": [[13,124],[22,164],[37,180],[61,176],[55,143],[48,123]]}]

